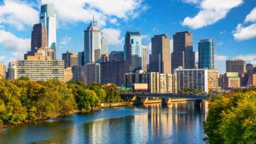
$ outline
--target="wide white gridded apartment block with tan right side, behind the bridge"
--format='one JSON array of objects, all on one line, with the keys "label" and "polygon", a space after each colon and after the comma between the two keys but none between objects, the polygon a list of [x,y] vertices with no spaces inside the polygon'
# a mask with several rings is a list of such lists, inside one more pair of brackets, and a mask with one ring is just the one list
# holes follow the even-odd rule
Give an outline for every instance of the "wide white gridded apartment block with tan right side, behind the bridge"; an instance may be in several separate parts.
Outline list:
[{"label": "wide white gridded apartment block with tan right side, behind the bridge", "polygon": [[177,90],[183,90],[185,87],[196,88],[207,93],[217,90],[217,70],[177,68],[175,73],[177,74]]}]

